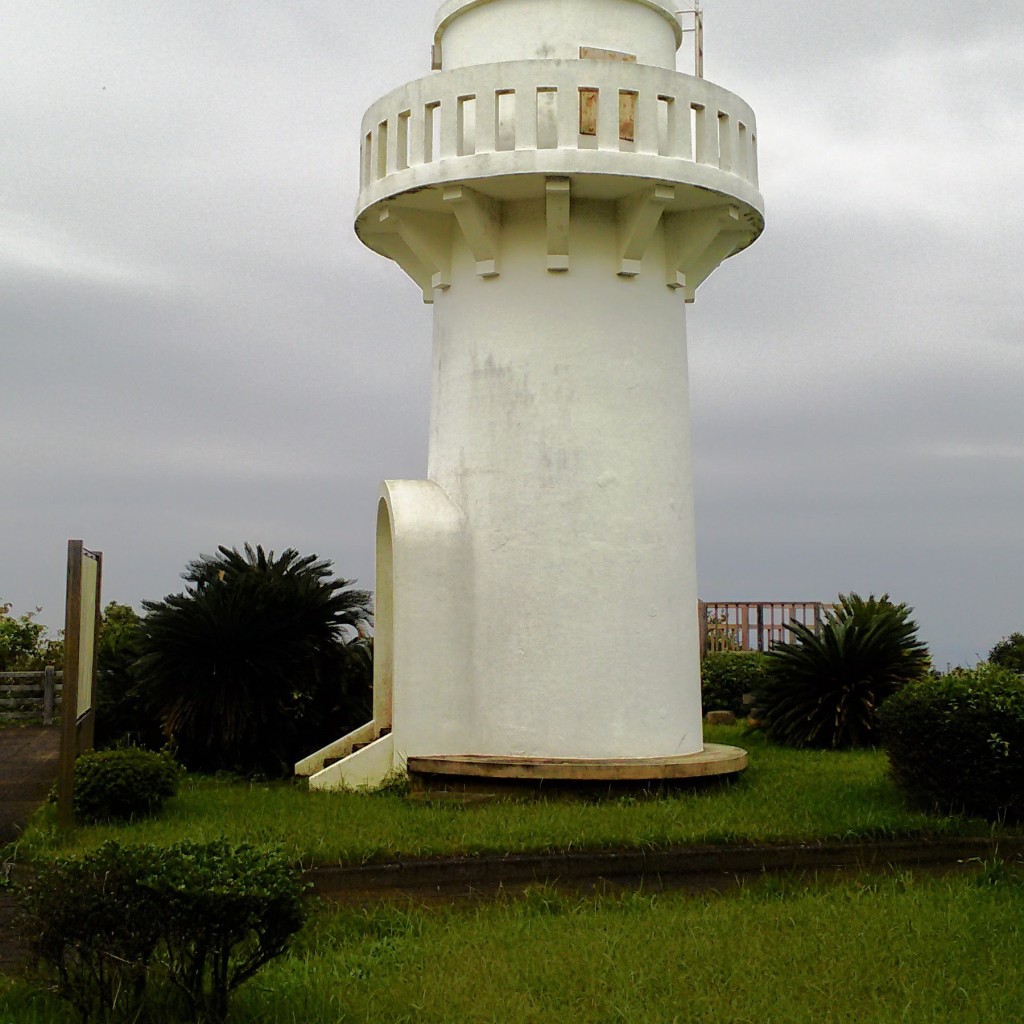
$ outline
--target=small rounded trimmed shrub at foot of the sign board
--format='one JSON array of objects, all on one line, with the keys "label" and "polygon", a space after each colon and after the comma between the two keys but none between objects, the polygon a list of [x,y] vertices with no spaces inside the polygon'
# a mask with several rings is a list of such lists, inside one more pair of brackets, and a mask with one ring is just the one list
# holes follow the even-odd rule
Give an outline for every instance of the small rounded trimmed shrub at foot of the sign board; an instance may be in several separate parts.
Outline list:
[{"label": "small rounded trimmed shrub at foot of the sign board", "polygon": [[153,814],[177,793],[180,773],[169,754],[137,746],[83,754],[75,762],[75,817],[96,822]]}]

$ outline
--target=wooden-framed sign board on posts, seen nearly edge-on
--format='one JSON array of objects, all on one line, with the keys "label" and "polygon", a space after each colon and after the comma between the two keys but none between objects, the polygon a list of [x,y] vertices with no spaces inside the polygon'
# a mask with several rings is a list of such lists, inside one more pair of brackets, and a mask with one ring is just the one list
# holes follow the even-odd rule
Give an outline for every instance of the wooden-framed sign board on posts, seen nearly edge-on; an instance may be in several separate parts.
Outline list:
[{"label": "wooden-framed sign board on posts, seen nearly edge-on", "polygon": [[68,542],[68,596],[65,602],[63,693],[60,698],[60,775],[57,823],[72,823],[75,761],[92,750],[95,733],[93,690],[100,622],[103,556],[81,541]]}]

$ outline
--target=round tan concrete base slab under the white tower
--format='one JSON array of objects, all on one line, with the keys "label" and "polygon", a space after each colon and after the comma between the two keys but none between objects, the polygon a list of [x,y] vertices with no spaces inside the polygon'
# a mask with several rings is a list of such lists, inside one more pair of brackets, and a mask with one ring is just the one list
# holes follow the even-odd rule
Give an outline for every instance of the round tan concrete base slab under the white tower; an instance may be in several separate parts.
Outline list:
[{"label": "round tan concrete base slab under the white tower", "polygon": [[651,784],[734,775],[746,767],[746,751],[708,743],[697,754],[659,758],[526,758],[482,754],[410,757],[414,786],[487,781],[504,783]]}]

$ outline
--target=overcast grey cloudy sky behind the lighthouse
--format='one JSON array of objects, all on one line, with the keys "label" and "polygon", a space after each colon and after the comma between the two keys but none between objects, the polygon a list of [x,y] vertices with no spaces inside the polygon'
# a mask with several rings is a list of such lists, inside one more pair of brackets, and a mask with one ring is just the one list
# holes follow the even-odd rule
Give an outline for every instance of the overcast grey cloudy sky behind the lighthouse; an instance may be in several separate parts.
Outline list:
[{"label": "overcast grey cloudy sky behind the lighthouse", "polygon": [[[433,0],[0,4],[0,599],[62,625],[218,544],[373,585],[426,470],[430,312],[351,229]],[[688,307],[699,591],[889,591],[936,662],[1024,630],[1024,19],[706,0],[767,227]],[[688,71],[681,57],[680,70]],[[624,608],[623,629],[629,629]]]}]

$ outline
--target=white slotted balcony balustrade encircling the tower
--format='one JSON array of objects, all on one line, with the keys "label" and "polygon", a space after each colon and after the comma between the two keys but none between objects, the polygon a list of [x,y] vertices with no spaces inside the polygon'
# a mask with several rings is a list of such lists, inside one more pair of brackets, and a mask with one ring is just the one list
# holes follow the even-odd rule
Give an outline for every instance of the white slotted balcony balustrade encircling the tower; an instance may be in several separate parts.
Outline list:
[{"label": "white slotted balcony balustrade encircling the tower", "polygon": [[473,174],[558,173],[558,151],[584,173],[690,180],[760,207],[743,100],[689,75],[597,60],[460,68],[384,96],[364,119],[359,205]]}]

